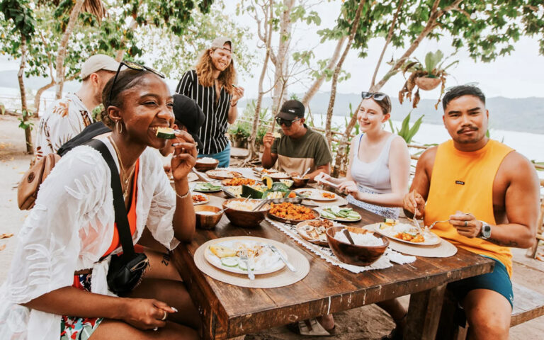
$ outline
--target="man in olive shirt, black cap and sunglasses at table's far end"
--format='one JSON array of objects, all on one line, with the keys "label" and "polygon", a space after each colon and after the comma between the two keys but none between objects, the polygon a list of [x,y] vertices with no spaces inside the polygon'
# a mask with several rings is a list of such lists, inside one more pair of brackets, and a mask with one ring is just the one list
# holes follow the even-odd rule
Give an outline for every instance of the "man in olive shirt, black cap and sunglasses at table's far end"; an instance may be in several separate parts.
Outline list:
[{"label": "man in olive shirt, black cap and sunglasses at table's far end", "polygon": [[263,167],[271,168],[278,161],[280,171],[291,176],[300,176],[310,168],[310,179],[321,172],[331,172],[332,156],[327,141],[305,125],[304,105],[300,101],[285,101],[276,122],[283,135],[276,138],[268,132],[263,137]]}]

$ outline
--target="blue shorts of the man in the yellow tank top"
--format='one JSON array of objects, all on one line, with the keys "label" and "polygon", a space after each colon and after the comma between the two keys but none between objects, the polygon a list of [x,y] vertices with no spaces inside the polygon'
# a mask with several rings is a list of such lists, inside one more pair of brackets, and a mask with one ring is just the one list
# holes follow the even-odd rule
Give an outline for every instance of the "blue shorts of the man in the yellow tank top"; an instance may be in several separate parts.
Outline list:
[{"label": "blue shorts of the man in the yellow tank top", "polygon": [[512,282],[508,275],[508,271],[506,271],[506,267],[501,261],[497,261],[489,256],[484,257],[495,261],[495,266],[491,273],[472,276],[472,278],[465,278],[464,280],[452,282],[448,284],[448,289],[453,292],[459,301],[462,301],[467,293],[473,289],[493,290],[506,297],[506,300],[514,307],[514,292],[512,291]]}]

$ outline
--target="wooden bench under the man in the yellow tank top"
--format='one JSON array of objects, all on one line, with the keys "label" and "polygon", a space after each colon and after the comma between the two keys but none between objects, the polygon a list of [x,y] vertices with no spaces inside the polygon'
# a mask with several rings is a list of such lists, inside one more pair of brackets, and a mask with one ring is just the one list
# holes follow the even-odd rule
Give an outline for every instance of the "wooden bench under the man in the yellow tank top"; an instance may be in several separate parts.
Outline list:
[{"label": "wooden bench under the man in the yellow tank top", "polygon": [[[514,290],[514,310],[512,310],[510,327],[544,315],[543,294],[516,283],[512,283],[512,290]],[[465,312],[458,307],[457,300],[448,290],[446,290],[446,298],[442,306],[441,320],[443,322],[438,325],[436,339],[466,339],[468,325],[465,322]],[[465,324],[460,326],[463,322]]]}]

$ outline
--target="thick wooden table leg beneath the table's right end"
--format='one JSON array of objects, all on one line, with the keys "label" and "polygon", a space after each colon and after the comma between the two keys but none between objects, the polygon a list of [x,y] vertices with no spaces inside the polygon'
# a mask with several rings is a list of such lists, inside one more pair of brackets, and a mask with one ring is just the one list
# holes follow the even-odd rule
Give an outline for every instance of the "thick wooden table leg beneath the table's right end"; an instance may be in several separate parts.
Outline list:
[{"label": "thick wooden table leg beneath the table's right end", "polygon": [[410,296],[405,340],[434,340],[446,284]]}]

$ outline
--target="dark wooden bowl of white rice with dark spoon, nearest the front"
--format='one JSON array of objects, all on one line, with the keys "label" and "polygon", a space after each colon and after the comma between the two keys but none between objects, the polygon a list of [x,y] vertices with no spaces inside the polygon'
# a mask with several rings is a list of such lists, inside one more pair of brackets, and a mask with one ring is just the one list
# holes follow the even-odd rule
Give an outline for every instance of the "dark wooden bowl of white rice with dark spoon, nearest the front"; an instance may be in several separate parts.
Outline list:
[{"label": "dark wooden bowl of white rice with dark spoon, nearest the front", "polygon": [[[348,241],[343,229],[347,229],[355,244]],[[340,261],[355,266],[370,266],[389,246],[387,237],[358,227],[330,227],[325,233],[334,255]]]}]

